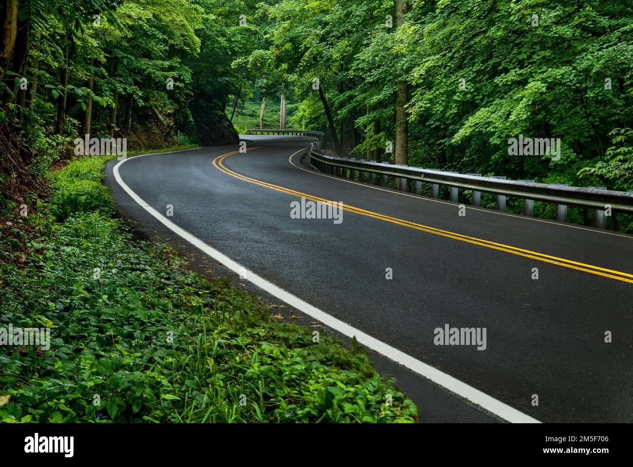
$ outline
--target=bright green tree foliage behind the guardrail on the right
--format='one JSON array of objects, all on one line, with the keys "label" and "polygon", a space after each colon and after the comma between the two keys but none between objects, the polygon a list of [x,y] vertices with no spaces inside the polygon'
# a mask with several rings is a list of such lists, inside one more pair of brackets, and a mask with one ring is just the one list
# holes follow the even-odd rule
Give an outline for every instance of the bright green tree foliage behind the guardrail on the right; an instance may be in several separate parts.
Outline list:
[{"label": "bright green tree foliage behind the guardrail on the right", "polygon": [[[398,29],[385,25],[385,15],[395,18],[393,1],[260,5],[265,40],[251,66],[266,70],[268,81],[291,84],[298,126],[325,130],[311,88],[320,78],[345,146],[358,145],[356,154],[394,141],[396,83],[406,80],[412,165],[596,183],[598,177],[577,173],[605,158],[612,128],[633,126],[628,1],[406,3]],[[364,138],[360,144],[352,141],[353,128]],[[510,156],[508,139],[519,134],[560,138],[560,160]],[[600,170],[612,175],[605,177],[611,188],[629,187],[627,149],[613,151],[606,157],[617,158],[621,170]]]}]

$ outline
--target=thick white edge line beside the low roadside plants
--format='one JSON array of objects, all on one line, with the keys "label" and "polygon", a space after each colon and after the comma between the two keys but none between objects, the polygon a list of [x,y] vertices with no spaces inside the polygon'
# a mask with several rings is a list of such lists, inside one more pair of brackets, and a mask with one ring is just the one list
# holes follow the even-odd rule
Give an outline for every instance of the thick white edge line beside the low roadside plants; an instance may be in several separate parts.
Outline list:
[{"label": "thick white edge line beside the low roadside plants", "polygon": [[[299,151],[292,154],[292,156],[304,150],[305,149],[299,149]],[[185,151],[191,151],[191,149],[185,149]],[[147,155],[148,154],[139,154],[138,156],[123,159],[113,167],[112,171],[114,173],[116,182],[122,187],[122,189],[125,190],[125,192],[127,192],[127,194],[132,197],[134,201],[141,205],[142,208],[144,208],[148,213],[154,216],[154,218],[159,220],[163,225],[165,225],[165,227],[172,230],[172,232],[180,235],[180,237],[187,240],[187,242],[191,243],[197,249],[208,254],[209,256],[211,256],[211,258],[222,263],[222,265],[226,266],[235,273],[240,274],[241,277],[253,283],[257,287],[260,287],[260,289],[265,290],[272,296],[277,297],[278,299],[286,302],[299,311],[312,316],[316,320],[321,321],[327,327],[333,328],[338,332],[346,335],[347,337],[356,337],[356,340],[363,344],[363,346],[366,346],[375,352],[379,352],[380,354],[395,361],[396,363],[406,366],[406,368],[411,371],[415,371],[415,373],[418,373],[418,375],[422,375],[423,377],[431,380],[438,385],[441,385],[449,391],[454,392],[455,394],[458,394],[461,397],[468,399],[469,401],[472,401],[474,404],[477,404],[487,411],[496,414],[504,420],[510,421],[512,423],[541,423],[535,418],[532,418],[529,415],[526,415],[521,411],[518,411],[517,409],[512,408],[501,401],[498,401],[497,399],[494,399],[494,397],[484,394],[484,392],[481,392],[479,389],[475,389],[467,383],[463,383],[460,380],[453,378],[450,375],[447,375],[446,373],[443,373],[442,371],[437,370],[436,368],[433,368],[432,366],[423,363],[422,361],[413,358],[408,354],[405,354],[404,352],[399,351],[395,347],[391,347],[388,344],[385,344],[384,342],[362,332],[361,330],[358,330],[351,325],[348,325],[347,323],[334,318],[334,316],[330,316],[329,314],[325,313],[325,311],[312,306],[308,302],[304,302],[299,297],[292,295],[290,292],[286,292],[284,289],[281,289],[272,282],[268,282],[253,271],[250,271],[244,268],[244,266],[240,265],[239,263],[236,263],[222,252],[207,245],[202,240],[190,234],[183,228],[175,225],[175,223],[168,220],[165,216],[161,215],[158,211],[156,211],[156,209],[149,206],[149,204],[147,204],[146,201],[144,201],[140,196],[132,191],[132,189],[130,189],[130,187],[128,187],[128,185],[125,184],[125,182],[123,182],[123,179],[121,178],[119,167],[123,163],[129,161],[130,159],[140,158]]]}]

